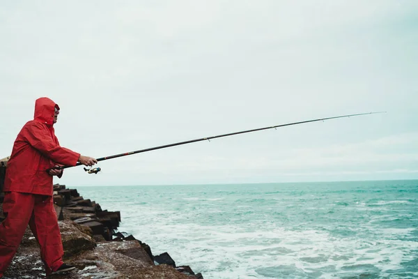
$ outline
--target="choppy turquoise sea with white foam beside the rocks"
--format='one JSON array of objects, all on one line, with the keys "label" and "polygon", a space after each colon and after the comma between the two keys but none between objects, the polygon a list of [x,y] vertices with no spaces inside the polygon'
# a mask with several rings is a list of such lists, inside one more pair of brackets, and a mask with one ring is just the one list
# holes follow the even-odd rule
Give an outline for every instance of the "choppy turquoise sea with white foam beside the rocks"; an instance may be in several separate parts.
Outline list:
[{"label": "choppy turquoise sea with white foam beside the rocks", "polygon": [[77,190],[205,279],[418,278],[418,180]]}]

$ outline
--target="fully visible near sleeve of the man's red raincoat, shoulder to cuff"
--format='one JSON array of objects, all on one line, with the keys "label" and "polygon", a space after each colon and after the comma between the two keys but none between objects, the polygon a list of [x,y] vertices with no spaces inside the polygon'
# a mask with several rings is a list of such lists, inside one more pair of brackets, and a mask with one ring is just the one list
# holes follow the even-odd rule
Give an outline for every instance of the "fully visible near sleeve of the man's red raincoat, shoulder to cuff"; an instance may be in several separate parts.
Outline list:
[{"label": "fully visible near sleeve of the man's red raincoat, shoulder to cuff", "polygon": [[42,155],[62,165],[74,166],[77,164],[80,154],[70,149],[59,146],[54,141],[55,135],[42,123],[33,121],[33,125],[26,125],[22,130],[24,139],[37,149]]}]

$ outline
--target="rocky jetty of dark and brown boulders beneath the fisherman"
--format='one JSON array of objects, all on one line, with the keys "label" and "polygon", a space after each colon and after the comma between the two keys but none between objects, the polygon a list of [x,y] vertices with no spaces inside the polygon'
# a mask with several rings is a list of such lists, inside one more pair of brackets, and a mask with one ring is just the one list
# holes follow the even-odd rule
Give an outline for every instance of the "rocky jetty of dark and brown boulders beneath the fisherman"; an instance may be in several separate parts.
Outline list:
[{"label": "rocky jetty of dark and brown boulders beneath the fisherman", "polygon": [[[3,220],[0,195],[0,221]],[[71,279],[203,279],[189,266],[176,266],[167,252],[151,248],[132,235],[117,232],[121,213],[102,210],[100,204],[79,195],[77,189],[54,185],[54,206],[64,247],[64,262],[77,267],[48,278]],[[46,278],[38,243],[29,227],[5,279]]]}]

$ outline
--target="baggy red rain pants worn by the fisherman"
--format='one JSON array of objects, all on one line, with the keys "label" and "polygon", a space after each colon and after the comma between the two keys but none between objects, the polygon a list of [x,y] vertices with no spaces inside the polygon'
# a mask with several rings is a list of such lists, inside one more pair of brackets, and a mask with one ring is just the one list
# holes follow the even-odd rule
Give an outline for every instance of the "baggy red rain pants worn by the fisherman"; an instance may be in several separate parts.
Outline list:
[{"label": "baggy red rain pants worn by the fisherman", "polygon": [[47,274],[63,264],[63,244],[52,196],[6,192],[3,201],[6,219],[0,224],[0,278],[10,262],[29,223],[40,246]]}]

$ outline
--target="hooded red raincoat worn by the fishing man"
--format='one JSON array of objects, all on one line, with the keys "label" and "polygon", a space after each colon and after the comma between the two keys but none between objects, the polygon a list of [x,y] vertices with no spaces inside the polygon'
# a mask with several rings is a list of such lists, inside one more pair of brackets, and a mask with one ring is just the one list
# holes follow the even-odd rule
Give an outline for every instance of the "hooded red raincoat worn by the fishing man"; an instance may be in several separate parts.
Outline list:
[{"label": "hooded red raincoat worn by the fishing man", "polygon": [[56,164],[76,165],[79,153],[59,146],[54,133],[54,108],[49,98],[35,103],[34,119],[27,122],[15,140],[7,163],[4,192],[52,195],[52,176],[46,169]]}]

